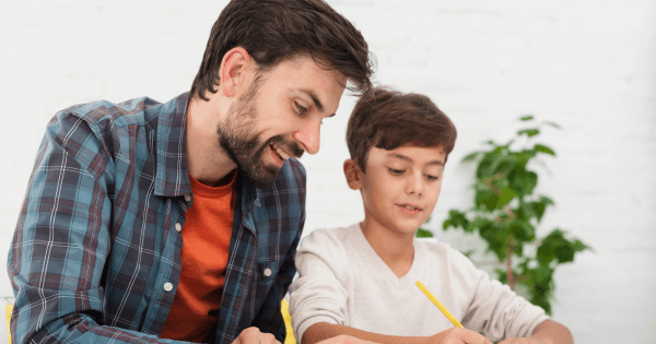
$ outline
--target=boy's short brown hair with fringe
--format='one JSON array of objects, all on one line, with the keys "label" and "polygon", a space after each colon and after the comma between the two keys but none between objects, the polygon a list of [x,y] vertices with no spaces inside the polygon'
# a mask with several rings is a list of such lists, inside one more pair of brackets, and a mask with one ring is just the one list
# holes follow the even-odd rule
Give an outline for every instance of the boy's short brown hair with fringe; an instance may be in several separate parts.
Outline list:
[{"label": "boy's short brown hair with fringe", "polygon": [[374,87],[355,104],[347,128],[351,158],[365,171],[372,146],[387,151],[412,144],[440,146],[446,158],[456,144],[456,127],[429,97]]}]

